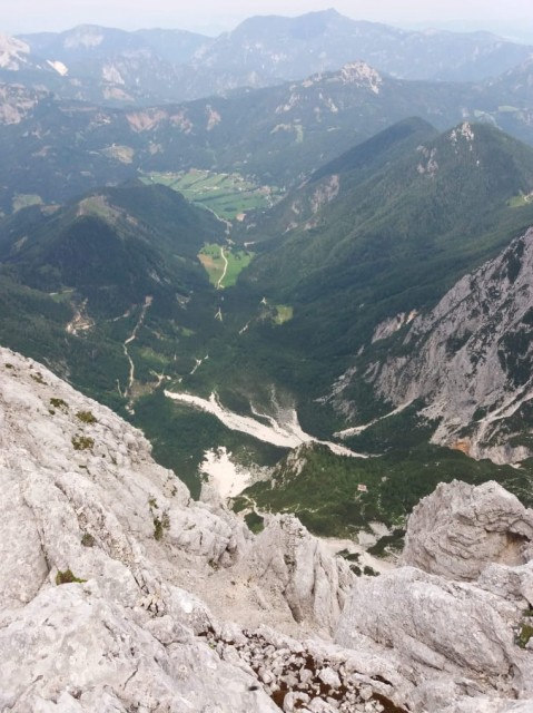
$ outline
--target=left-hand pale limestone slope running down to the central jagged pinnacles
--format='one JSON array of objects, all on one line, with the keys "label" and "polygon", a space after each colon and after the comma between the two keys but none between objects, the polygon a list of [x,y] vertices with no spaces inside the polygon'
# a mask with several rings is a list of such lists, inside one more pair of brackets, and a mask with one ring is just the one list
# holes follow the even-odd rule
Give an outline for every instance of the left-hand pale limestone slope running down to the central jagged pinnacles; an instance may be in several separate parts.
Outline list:
[{"label": "left-hand pale limestone slope running down to the central jagged pinnacles", "polygon": [[[216,651],[219,622],[248,623],[260,590],[258,623],[327,634],[352,579],[296,521],[274,518],[255,545],[138,430],[9,350],[0,514],[0,711],[278,710],[238,651]],[[298,566],[258,568],[282,540]]]}]

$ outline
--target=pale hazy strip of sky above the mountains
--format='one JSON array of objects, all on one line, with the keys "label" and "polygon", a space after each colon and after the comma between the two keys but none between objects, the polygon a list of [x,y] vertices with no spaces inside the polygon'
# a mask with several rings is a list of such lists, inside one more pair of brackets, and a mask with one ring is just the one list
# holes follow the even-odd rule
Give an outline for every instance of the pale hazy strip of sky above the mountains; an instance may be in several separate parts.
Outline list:
[{"label": "pale hazy strip of sky above the mountains", "polygon": [[533,35],[532,0],[0,0],[0,32],[65,30],[88,22],[217,33],[254,14],[296,16],[329,7],[357,20],[426,26],[465,21],[468,29],[531,28]]}]

